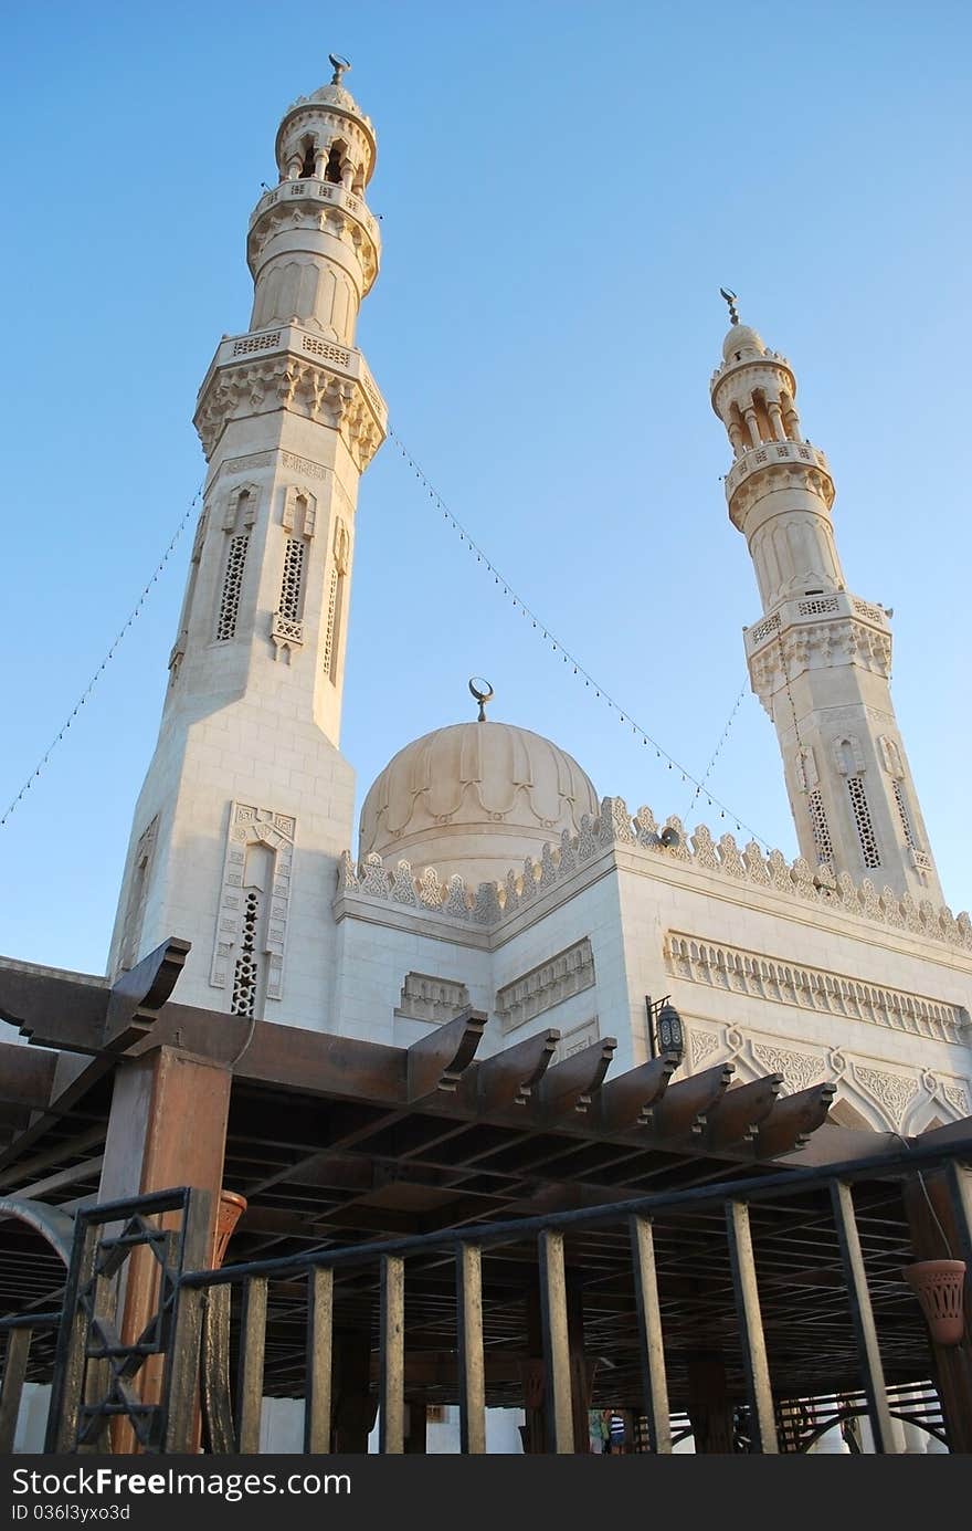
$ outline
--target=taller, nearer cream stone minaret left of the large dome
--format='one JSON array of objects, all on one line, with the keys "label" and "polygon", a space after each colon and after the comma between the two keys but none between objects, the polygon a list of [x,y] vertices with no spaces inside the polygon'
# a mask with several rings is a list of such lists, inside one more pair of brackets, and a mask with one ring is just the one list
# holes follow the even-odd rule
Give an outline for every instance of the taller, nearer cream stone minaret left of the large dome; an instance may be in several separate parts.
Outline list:
[{"label": "taller, nearer cream stone minaret left of the large dome", "polygon": [[109,958],[116,974],[184,937],[181,1000],[312,1027],[352,841],[338,739],[358,478],[386,435],[354,344],[378,273],[375,133],[331,63],[285,113],[280,179],[250,219],[251,328],[199,390],[204,507]]}]

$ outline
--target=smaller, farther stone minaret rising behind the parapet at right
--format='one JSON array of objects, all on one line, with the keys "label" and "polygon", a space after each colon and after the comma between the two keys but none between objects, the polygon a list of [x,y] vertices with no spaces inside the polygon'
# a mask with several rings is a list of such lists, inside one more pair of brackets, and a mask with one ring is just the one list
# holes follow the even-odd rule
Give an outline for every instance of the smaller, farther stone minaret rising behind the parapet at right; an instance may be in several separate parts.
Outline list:
[{"label": "smaller, farther stone minaret rising behind the parapet at right", "polygon": [[790,363],[741,325],[733,294],[712,407],[735,462],[729,514],[745,536],[762,620],[745,629],[753,690],[773,718],[801,854],[877,890],[940,905],[891,690],[891,615],[853,596],[834,542],[834,482],[804,441]]}]

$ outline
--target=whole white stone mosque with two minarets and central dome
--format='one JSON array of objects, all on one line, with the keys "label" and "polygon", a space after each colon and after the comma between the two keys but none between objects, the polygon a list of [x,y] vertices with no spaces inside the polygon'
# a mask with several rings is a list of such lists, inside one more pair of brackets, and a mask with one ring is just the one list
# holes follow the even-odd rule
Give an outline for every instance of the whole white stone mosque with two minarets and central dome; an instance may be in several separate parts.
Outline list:
[{"label": "whole white stone mosque with two minarets and central dome", "polygon": [[[721,1070],[724,1089],[732,1066],[733,1090],[768,1076],[778,1102],[816,1090],[828,1108],[816,1139],[830,1133],[834,1157],[848,1134],[885,1144],[961,1122],[972,923],[944,905],[895,721],[891,612],[848,586],[834,481],[801,427],[794,367],[739,322],[732,294],[710,401],[727,436],[729,516],[759,591],[749,674],[779,739],[797,859],[704,827],[687,834],[678,818],[611,796],[528,718],[490,715],[478,681],[478,715],[389,741],[355,827],[340,749],[347,611],[358,481],[387,409],[355,346],[381,256],[367,207],[375,129],[334,63],[331,83],[283,115],[279,184],[248,227],[250,329],[220,340],[199,389],[208,470],[159,739],[107,984],[67,975],[72,992],[126,992],[176,937],[178,1020],[191,1032],[193,1010],[211,1030],[225,1018],[233,1066],[248,1049],[254,1069],[260,1049],[269,1056],[272,1024],[282,1047],[300,1032],[340,1038],[355,1058],[358,1044],[429,1056],[473,1014],[481,1069],[543,1043],[551,1069],[592,1070],[586,1096],[574,1093],[588,1101],[608,1061],[628,1075],[657,1059],[660,1012],[670,1021],[674,1009],[680,1081]],[[8,983],[40,984],[40,969],[17,966]],[[0,992],[2,1014],[31,1032],[34,1001],[3,998],[12,992]],[[60,1036],[34,1024],[34,1041]],[[167,1049],[182,1036],[171,1030]],[[133,1122],[142,1136],[147,1121],[175,1128],[202,1099],[225,1122],[222,1085],[179,1095],[193,1069],[205,1072],[194,1055],[150,1090],[144,1070],[130,1087],[118,1076],[93,1179],[58,1170],[75,1197],[188,1176],[173,1168],[176,1148],[155,1180],[150,1147],[141,1170],[127,1160],[133,1134],[142,1142]],[[207,1174],[219,1187],[216,1136]],[[372,1193],[372,1206],[427,1216],[441,1194],[413,1177],[395,1200]],[[276,1225],[251,1214],[250,1226]]]}]

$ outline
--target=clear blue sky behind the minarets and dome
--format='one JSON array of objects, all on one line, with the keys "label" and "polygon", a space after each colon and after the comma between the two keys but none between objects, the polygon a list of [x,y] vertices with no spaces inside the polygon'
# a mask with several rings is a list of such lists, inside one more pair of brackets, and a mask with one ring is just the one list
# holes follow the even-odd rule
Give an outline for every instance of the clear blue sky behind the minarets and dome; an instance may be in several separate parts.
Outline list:
[{"label": "clear blue sky behind the minarets and dome", "polygon": [[[220,335],[248,325],[246,220],[280,116],[335,51],[378,130],[384,254],[358,344],[398,438],[540,617],[387,442],[358,501],[341,738],[358,804],[403,744],[475,715],[467,680],[485,675],[491,717],[554,738],[599,793],[796,854],[709,404],[727,285],[796,369],[850,588],[894,609],[918,799],[949,905],[972,903],[970,17],[935,0],[8,6],[0,814],[201,485],[191,413]],[[190,544],[0,827],[8,955],[104,971]],[[716,755],[726,821],[543,628],[690,775]]]}]

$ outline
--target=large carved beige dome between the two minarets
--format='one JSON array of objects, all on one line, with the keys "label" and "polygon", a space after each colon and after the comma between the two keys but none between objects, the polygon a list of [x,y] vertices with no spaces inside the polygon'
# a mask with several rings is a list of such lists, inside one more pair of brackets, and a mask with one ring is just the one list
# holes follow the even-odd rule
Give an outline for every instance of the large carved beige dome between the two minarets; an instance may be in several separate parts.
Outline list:
[{"label": "large carved beige dome between the two minarets", "polygon": [[459,873],[476,888],[539,860],[563,830],[577,834],[585,813],[599,813],[594,785],[550,739],[510,723],[455,723],[384,767],[361,808],[358,854]]}]

